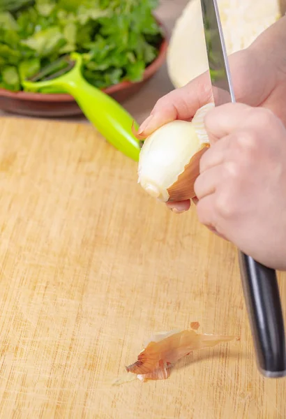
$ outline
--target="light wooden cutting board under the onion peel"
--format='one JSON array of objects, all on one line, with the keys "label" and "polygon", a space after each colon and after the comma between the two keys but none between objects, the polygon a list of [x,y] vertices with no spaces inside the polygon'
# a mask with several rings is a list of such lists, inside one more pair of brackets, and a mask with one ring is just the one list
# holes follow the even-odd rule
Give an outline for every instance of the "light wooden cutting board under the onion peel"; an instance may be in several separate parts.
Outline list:
[{"label": "light wooden cutting board under the onion peel", "polygon": [[[88,125],[0,119],[0,418],[285,418],[257,372],[236,250],[137,185]],[[286,277],[280,276],[286,309]],[[112,382],[153,332],[232,341]]]}]

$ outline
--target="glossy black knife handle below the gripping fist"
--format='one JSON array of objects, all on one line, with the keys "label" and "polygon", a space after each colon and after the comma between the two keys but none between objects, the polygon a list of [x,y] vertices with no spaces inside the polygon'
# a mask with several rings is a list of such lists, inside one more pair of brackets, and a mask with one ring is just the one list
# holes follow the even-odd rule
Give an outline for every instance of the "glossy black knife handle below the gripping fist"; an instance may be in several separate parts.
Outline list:
[{"label": "glossy black knife handle below the gripping fist", "polygon": [[285,330],[276,271],[240,251],[239,265],[258,368],[266,377],[284,377]]}]

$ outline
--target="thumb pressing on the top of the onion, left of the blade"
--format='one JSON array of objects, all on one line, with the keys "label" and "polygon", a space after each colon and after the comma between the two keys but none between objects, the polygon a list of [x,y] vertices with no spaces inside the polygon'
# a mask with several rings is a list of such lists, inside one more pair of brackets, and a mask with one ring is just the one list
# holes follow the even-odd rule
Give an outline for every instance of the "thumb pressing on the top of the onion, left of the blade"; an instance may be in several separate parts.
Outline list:
[{"label": "thumb pressing on the top of the onion, left of the blade", "polygon": [[160,98],[151,111],[151,115],[142,122],[138,134],[146,138],[167,122],[175,119],[189,121],[199,108],[211,101],[211,82],[207,72],[199,75],[186,86]]}]

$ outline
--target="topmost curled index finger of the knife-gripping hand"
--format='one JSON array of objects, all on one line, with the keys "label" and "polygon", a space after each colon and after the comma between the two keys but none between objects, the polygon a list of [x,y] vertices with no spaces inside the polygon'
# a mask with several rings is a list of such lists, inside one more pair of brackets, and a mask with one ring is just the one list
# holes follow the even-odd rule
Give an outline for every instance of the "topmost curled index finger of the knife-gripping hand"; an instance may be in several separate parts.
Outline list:
[{"label": "topmost curled index finger of the knife-gripping hand", "polygon": [[241,128],[250,110],[253,108],[244,103],[226,103],[210,110],[204,118],[204,125],[211,145]]}]

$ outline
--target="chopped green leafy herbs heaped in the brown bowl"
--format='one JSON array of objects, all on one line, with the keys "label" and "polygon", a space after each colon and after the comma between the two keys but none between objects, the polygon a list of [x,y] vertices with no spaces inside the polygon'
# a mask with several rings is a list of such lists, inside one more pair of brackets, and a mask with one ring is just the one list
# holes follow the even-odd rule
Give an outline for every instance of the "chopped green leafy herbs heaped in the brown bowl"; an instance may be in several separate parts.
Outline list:
[{"label": "chopped green leafy herbs heaped in the brown bowl", "polygon": [[83,74],[98,88],[142,80],[158,56],[157,0],[0,0],[0,87],[23,89],[59,57],[83,54]]}]

